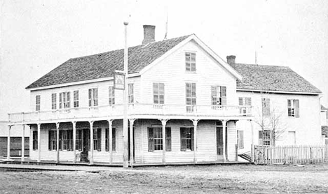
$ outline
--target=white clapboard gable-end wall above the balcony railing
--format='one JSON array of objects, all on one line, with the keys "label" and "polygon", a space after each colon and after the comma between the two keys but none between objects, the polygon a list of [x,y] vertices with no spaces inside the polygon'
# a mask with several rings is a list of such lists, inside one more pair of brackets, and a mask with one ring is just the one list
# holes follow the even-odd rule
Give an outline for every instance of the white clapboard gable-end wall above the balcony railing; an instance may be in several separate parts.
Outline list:
[{"label": "white clapboard gable-end wall above the balcony railing", "polygon": [[[186,73],[185,52],[196,52],[196,73]],[[195,82],[198,105],[211,104],[212,85],[226,86],[227,105],[237,105],[235,77],[193,41],[142,74],[142,103],[153,103],[153,82],[165,84],[165,104],[185,105],[186,82]]]}]

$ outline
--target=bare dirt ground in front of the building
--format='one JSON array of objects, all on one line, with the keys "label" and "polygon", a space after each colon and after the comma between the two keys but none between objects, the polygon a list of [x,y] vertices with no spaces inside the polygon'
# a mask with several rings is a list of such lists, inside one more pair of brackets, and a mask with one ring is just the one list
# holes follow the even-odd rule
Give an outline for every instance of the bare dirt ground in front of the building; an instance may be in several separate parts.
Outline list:
[{"label": "bare dirt ground in front of the building", "polygon": [[0,172],[0,193],[328,193],[328,164]]}]

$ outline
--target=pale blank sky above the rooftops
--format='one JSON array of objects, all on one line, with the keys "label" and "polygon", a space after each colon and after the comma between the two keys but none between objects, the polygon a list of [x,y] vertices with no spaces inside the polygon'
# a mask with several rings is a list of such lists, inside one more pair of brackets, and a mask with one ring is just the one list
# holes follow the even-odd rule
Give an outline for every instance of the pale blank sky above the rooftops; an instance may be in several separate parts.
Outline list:
[{"label": "pale blank sky above the rooftops", "polygon": [[[195,33],[222,59],[289,66],[328,106],[328,1],[0,0],[0,121],[29,111],[29,84],[70,58]],[[168,16],[168,17],[167,17]]]}]

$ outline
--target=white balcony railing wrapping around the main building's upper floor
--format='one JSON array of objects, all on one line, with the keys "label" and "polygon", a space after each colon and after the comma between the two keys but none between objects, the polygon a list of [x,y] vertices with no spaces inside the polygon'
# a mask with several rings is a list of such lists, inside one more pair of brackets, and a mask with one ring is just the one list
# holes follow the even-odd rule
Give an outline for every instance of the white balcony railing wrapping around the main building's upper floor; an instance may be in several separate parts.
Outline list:
[{"label": "white balcony railing wrapping around the main building's upper floor", "polygon": [[[128,115],[176,115],[176,116],[252,116],[250,106],[221,105],[158,105],[129,104]],[[31,122],[62,119],[88,119],[101,117],[123,117],[123,105],[97,107],[78,107],[37,112],[20,112],[9,114],[9,121]]]}]

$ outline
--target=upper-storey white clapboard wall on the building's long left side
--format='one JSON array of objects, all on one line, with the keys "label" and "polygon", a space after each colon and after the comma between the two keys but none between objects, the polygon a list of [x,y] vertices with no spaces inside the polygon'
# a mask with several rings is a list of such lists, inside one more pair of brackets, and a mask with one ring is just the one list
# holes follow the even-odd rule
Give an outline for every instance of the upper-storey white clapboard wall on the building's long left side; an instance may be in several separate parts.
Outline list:
[{"label": "upper-storey white clapboard wall on the building's long left side", "polygon": [[[140,99],[140,77],[130,77],[128,83],[133,83],[135,87],[135,102],[138,102]],[[113,86],[113,80],[104,81],[104,82],[95,82],[90,84],[80,84],[73,85],[69,87],[59,87],[53,89],[43,89],[38,91],[31,91],[31,111],[35,111],[36,105],[36,95],[41,96],[41,110],[51,110],[51,94],[57,94],[57,109],[59,109],[59,94],[61,92],[69,91],[71,107],[73,107],[74,94],[75,90],[78,90],[79,93],[79,107],[89,107],[89,96],[88,90],[92,88],[98,89],[98,105],[109,105],[109,86]],[[123,102],[123,91],[116,90],[115,93],[116,104],[121,104]]]}]

